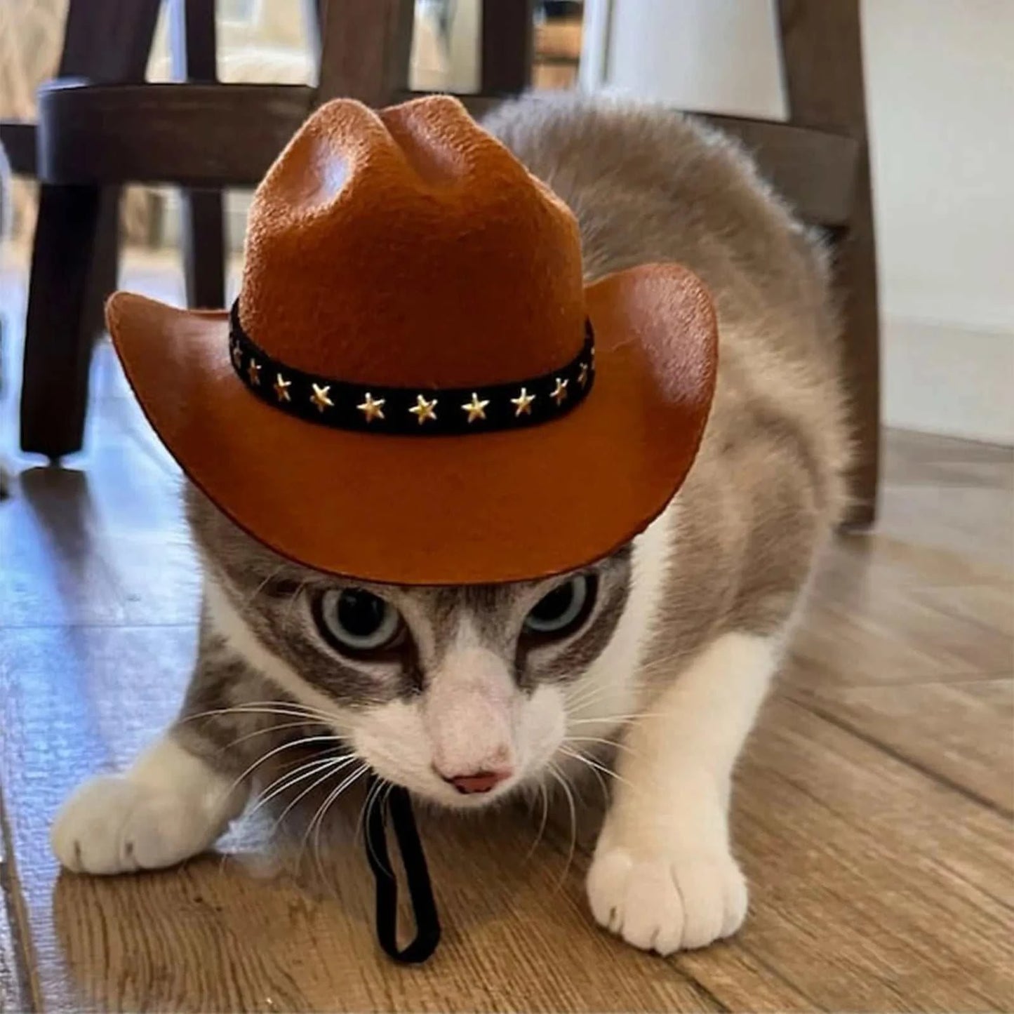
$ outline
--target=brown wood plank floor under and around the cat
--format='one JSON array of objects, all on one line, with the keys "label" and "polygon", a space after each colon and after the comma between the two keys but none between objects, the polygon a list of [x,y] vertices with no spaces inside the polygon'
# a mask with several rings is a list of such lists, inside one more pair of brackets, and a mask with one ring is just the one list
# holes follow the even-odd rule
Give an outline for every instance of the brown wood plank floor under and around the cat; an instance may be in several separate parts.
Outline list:
[{"label": "brown wood plank floor under and around the cat", "polygon": [[[16,272],[0,297],[16,325]],[[95,379],[88,453],[61,470],[13,454],[0,401],[20,474],[0,503],[0,1008],[1014,1009],[1010,450],[887,435],[882,520],[829,554],[739,770],[737,937],[662,959],[596,930],[591,793],[572,861],[566,819],[533,852],[521,811],[425,820],[445,938],[402,968],[375,949],[365,860],[341,838],[324,888],[249,828],[224,859],[58,875],[55,808],[172,714],[194,651],[177,473],[105,347]]]}]

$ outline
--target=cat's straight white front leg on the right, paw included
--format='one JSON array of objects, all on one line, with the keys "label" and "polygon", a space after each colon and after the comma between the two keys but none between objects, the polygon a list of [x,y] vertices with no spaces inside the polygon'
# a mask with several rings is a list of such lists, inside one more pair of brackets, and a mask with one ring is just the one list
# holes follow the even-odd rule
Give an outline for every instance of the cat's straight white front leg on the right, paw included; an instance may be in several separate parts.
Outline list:
[{"label": "cat's straight white front leg on the right, paw included", "polygon": [[595,920],[636,947],[703,947],[743,921],[730,779],[775,666],[773,639],[724,634],[627,732],[587,886]]}]

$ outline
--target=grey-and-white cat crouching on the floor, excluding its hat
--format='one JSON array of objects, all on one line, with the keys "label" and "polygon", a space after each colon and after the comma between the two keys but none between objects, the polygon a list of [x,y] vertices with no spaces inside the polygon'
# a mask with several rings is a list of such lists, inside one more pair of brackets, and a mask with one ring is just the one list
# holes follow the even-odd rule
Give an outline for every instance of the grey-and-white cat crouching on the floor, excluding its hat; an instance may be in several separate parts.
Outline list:
[{"label": "grey-and-white cat crouching on the floor, excluding its hat", "polygon": [[204,595],[186,700],[126,774],[65,804],[65,867],[163,867],[212,845],[246,803],[249,778],[235,783],[271,738],[250,733],[279,721],[269,702],[288,726],[342,737],[336,781],[368,765],[448,808],[602,756],[617,777],[587,877],[595,921],[662,954],[742,923],[731,775],[846,501],[827,258],[737,144],[680,115],[531,95],[485,126],[572,208],[589,279],[678,261],[710,288],[718,383],[689,478],[579,572],[440,588],[308,571],[190,488]]}]

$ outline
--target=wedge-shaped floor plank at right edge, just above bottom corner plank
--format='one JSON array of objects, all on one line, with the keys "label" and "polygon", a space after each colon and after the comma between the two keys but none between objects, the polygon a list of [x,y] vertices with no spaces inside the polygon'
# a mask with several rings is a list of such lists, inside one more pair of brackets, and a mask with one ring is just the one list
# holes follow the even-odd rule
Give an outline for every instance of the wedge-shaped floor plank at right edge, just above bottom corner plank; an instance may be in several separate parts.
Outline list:
[{"label": "wedge-shaped floor plank at right edge, just above bottom corner plank", "polygon": [[811,710],[1014,814],[1014,678],[797,692]]}]

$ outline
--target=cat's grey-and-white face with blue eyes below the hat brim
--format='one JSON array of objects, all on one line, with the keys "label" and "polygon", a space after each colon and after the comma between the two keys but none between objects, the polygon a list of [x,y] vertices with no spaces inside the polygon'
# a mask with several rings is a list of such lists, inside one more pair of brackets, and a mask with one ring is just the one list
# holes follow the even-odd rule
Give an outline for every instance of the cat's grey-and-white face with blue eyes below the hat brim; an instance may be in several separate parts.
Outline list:
[{"label": "cat's grey-and-white face with blue eyes below the hat brim", "polygon": [[200,494],[189,506],[218,632],[418,796],[481,806],[552,780],[636,706],[665,556],[657,523],[572,574],[404,587],[287,563]]}]

